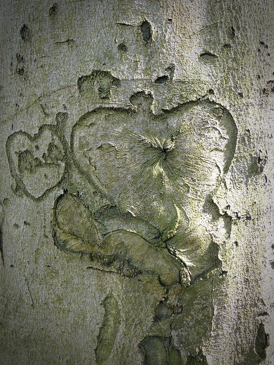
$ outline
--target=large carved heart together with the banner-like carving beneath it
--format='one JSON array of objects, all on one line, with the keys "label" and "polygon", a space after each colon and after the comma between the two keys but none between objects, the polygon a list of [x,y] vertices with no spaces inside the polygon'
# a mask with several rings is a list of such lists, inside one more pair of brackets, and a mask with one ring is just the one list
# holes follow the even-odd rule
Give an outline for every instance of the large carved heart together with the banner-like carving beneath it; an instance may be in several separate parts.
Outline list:
[{"label": "large carved heart together with the banner-like carving beneath it", "polygon": [[237,128],[208,100],[161,115],[152,114],[151,95],[130,101],[135,111],[98,108],[73,127],[75,165],[112,204],[91,211],[79,195],[60,196],[55,244],[90,255],[94,268],[189,285],[220,263],[211,193],[231,164]]}]

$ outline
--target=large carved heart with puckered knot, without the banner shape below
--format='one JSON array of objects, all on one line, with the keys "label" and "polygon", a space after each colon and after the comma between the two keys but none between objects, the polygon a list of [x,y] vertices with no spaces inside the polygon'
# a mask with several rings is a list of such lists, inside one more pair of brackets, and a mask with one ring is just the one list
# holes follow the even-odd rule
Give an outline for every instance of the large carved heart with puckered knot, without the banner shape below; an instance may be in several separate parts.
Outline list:
[{"label": "large carved heart with puckered knot, without the banner shape below", "polygon": [[161,115],[152,114],[152,100],[140,92],[130,99],[136,111],[99,108],[81,117],[73,158],[122,211],[174,231],[183,208],[202,207],[227,171],[236,127],[224,107],[208,100]]}]

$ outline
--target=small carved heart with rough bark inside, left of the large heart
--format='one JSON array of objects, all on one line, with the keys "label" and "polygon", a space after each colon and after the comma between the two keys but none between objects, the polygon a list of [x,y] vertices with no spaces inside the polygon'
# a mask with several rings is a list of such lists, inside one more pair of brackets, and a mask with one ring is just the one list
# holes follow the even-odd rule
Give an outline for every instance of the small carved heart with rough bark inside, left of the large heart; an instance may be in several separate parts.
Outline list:
[{"label": "small carved heart with rough bark inside, left of the large heart", "polygon": [[65,151],[55,129],[43,125],[33,137],[15,132],[6,143],[17,188],[36,199],[55,187],[65,171]]}]

